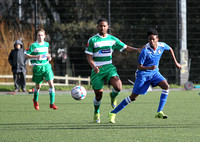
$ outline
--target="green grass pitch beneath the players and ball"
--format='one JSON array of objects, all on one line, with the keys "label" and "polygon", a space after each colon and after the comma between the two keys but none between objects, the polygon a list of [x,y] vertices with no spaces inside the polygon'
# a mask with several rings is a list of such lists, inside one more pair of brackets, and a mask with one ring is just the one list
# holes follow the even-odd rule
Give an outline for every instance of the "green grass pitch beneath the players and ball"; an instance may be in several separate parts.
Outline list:
[{"label": "green grass pitch beneath the players and ball", "polygon": [[[121,92],[118,102],[130,92]],[[1,142],[154,142],[200,141],[199,90],[171,91],[164,112],[167,120],[156,119],[160,91],[139,96],[117,114],[110,124],[108,92],[101,104],[101,123],[93,123],[93,93],[75,101],[69,93],[57,94],[58,110],[49,108],[49,96],[40,94],[40,110],[33,108],[33,95],[0,95]]]}]

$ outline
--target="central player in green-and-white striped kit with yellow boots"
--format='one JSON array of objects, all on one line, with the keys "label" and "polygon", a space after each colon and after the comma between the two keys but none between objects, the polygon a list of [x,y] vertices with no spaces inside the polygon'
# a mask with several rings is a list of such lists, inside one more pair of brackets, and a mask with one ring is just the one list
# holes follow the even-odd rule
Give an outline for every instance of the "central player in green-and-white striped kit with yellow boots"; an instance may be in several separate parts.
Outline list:
[{"label": "central player in green-and-white striped kit with yellow boots", "polygon": [[100,123],[100,104],[103,96],[103,84],[106,80],[113,86],[111,97],[111,106],[117,105],[116,97],[122,90],[122,82],[115,66],[112,64],[112,52],[117,49],[119,51],[139,52],[139,48],[127,46],[118,38],[107,33],[109,28],[108,21],[101,18],[97,22],[98,34],[92,36],[87,43],[85,53],[87,60],[92,67],[91,84],[95,92],[94,97],[94,122]]}]

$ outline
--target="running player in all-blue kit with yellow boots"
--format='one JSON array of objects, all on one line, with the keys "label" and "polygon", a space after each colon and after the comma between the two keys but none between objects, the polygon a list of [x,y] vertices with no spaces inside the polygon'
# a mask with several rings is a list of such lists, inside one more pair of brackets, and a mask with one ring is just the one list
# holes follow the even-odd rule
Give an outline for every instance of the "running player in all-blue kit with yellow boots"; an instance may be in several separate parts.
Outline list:
[{"label": "running player in all-blue kit with yellow boots", "polygon": [[142,49],[136,71],[136,80],[132,94],[125,98],[113,111],[109,112],[110,123],[115,123],[116,114],[126,107],[132,101],[135,101],[139,94],[145,95],[150,85],[162,88],[160,103],[156,113],[156,118],[167,119],[167,115],[163,113],[163,108],[169,94],[169,84],[159,72],[159,61],[164,52],[168,50],[175,62],[177,69],[181,69],[181,65],[177,62],[172,48],[164,42],[159,42],[158,32],[155,28],[147,31],[148,43]]}]

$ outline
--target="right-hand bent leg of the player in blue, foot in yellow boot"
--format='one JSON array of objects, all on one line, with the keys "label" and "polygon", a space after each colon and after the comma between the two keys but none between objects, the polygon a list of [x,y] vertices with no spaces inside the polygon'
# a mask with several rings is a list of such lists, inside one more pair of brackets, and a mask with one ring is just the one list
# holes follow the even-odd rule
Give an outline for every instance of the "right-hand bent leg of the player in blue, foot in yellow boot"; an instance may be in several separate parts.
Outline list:
[{"label": "right-hand bent leg of the player in blue, foot in yellow boot", "polygon": [[[158,109],[157,109],[157,114],[156,114],[156,118],[162,118],[162,119],[167,119],[167,115],[165,115],[163,113],[163,108],[167,102],[167,97],[169,94],[169,84],[167,83],[167,81],[165,80],[165,78],[158,73],[155,77],[154,77],[154,81],[152,82],[153,84],[157,83],[157,86],[159,86],[160,88],[162,88],[162,93],[160,96],[160,102],[158,105]],[[153,85],[154,86],[154,85]]]}]

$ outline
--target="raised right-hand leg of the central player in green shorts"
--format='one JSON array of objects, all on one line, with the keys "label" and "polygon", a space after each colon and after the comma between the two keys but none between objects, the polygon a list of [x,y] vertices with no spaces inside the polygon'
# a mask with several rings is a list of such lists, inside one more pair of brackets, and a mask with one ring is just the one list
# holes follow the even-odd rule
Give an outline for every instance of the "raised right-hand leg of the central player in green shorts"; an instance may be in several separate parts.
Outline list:
[{"label": "raised right-hand leg of the central player in green shorts", "polygon": [[115,108],[117,106],[116,97],[119,95],[120,91],[122,90],[122,82],[118,76],[114,76],[114,77],[111,77],[110,84],[113,86],[112,92],[110,93],[111,106],[112,108]]}]

